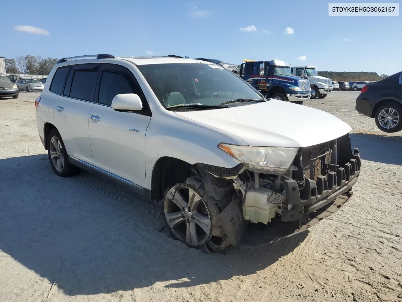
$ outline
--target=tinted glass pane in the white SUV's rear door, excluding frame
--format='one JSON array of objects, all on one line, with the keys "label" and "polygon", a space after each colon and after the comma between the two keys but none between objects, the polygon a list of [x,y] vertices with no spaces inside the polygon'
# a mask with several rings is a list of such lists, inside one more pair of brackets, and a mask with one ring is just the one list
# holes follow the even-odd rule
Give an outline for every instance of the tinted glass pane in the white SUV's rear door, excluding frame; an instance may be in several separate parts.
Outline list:
[{"label": "tinted glass pane in the white SUV's rear door, excluding frame", "polygon": [[97,69],[75,68],[71,82],[70,97],[82,99],[84,101],[92,101],[97,79]]}]

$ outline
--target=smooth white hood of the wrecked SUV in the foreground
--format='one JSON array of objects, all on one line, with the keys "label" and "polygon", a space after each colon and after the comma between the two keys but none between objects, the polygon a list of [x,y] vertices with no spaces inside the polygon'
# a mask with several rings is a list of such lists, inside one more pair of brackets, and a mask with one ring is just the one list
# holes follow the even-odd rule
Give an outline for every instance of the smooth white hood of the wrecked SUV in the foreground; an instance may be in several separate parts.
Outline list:
[{"label": "smooth white hood of the wrecked SUV in the foreground", "polygon": [[250,146],[308,147],[352,130],[332,114],[279,100],[175,113],[232,133]]}]

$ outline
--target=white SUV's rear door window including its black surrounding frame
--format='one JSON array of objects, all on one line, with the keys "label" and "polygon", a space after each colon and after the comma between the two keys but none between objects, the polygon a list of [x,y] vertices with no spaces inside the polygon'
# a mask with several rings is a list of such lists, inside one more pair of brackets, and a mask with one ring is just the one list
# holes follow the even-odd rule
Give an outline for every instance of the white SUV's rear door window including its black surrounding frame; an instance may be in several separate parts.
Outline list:
[{"label": "white SUV's rear door window including its black surrounding frame", "polygon": [[99,64],[73,65],[63,95],[93,101],[98,74]]}]

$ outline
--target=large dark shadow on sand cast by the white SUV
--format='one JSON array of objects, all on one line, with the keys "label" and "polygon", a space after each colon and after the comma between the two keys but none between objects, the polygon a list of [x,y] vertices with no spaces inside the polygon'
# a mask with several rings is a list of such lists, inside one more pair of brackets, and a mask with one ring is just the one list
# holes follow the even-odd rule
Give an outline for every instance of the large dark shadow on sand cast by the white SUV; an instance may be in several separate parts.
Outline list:
[{"label": "large dark shadow on sand cast by the white SUV", "polygon": [[[203,254],[158,232],[152,205],[82,172],[57,177],[47,155],[0,160],[0,249],[68,295],[207,284],[265,269],[307,232],[267,242],[269,227],[248,233],[259,245]],[[255,240],[260,236],[259,240]]]}]

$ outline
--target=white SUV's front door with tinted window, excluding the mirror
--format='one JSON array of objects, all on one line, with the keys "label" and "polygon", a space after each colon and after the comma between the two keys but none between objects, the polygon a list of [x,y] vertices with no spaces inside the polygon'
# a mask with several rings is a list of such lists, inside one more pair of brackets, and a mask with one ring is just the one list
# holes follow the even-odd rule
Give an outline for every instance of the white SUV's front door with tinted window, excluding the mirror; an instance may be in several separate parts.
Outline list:
[{"label": "white SUV's front door with tinted window, excluding the mirror", "polygon": [[[123,182],[145,188],[145,133],[151,120],[146,112],[148,104],[131,71],[122,66],[105,64],[98,86],[89,118],[93,165]],[[139,95],[144,110],[114,110],[113,97],[123,93]]]}]

